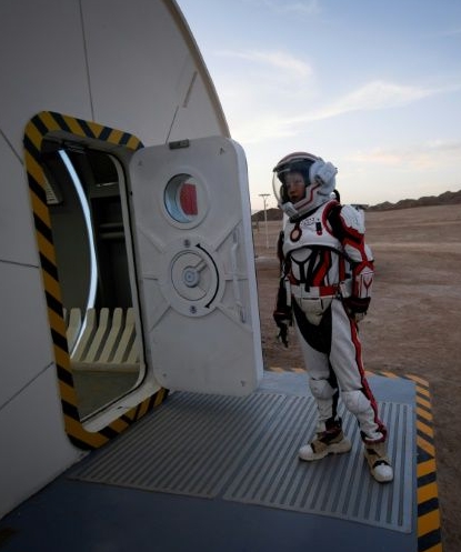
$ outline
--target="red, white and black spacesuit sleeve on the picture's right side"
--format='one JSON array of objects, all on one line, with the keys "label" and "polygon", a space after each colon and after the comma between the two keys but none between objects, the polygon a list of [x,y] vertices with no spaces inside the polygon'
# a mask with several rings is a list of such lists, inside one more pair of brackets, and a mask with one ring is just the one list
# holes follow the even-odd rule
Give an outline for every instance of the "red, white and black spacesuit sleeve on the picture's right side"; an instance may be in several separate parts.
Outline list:
[{"label": "red, white and black spacesuit sleeve on the picture's right side", "polygon": [[338,224],[339,239],[352,270],[350,298],[357,302],[358,309],[365,311],[371,299],[374,269],[373,254],[365,243],[363,215],[352,205],[343,205],[338,215]]}]

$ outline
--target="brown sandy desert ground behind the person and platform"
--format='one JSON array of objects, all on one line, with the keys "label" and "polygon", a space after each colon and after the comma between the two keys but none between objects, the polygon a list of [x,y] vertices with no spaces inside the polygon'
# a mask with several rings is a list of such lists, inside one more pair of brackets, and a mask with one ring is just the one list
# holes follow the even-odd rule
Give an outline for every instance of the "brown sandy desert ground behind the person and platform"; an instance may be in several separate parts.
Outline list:
[{"label": "brown sandy desert ground behind the person and platform", "polygon": [[[375,259],[373,299],[361,322],[367,370],[429,382],[444,552],[461,550],[461,204],[365,213]],[[253,232],[265,368],[302,368],[291,330],[277,341],[280,222]],[[269,248],[267,242],[269,241]]]}]

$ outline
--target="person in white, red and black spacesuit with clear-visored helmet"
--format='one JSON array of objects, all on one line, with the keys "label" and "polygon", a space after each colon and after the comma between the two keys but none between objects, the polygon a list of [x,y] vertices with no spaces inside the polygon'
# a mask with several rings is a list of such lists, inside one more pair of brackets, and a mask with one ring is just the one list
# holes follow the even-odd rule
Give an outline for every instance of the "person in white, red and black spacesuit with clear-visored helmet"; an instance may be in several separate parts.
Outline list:
[{"label": "person in white, red and black spacesuit with clear-visored helmet", "polygon": [[287,215],[278,245],[282,277],[274,320],[285,341],[294,314],[318,405],[317,435],[299,455],[319,460],[351,449],[337,412],[341,393],[358,420],[372,475],[391,481],[387,429],[365,378],[358,334],[373,282],[363,218],[353,207],[331,199],[337,169],[321,158],[291,153],[273,172],[274,193]]}]

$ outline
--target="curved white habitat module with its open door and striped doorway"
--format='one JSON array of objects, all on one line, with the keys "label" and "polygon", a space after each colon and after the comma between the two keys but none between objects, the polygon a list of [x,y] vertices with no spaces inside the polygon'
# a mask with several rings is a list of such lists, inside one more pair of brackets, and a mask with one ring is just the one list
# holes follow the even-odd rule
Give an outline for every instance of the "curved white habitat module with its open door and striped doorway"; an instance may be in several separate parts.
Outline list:
[{"label": "curved white habitat module with its open door and striped doorway", "polygon": [[2,516],[262,355],[245,158],[176,2],[2,0],[0,52]]}]

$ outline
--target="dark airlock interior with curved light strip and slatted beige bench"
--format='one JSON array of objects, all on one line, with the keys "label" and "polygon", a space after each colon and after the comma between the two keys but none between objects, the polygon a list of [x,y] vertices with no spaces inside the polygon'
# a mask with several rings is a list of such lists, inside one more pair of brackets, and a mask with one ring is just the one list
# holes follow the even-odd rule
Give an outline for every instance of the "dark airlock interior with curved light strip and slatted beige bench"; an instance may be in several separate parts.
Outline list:
[{"label": "dark airlock interior with curved light strip and slatted beige bench", "polygon": [[143,377],[124,183],[106,151],[42,142],[42,163],[78,408],[82,420]]}]

